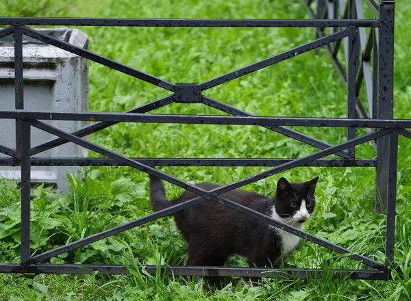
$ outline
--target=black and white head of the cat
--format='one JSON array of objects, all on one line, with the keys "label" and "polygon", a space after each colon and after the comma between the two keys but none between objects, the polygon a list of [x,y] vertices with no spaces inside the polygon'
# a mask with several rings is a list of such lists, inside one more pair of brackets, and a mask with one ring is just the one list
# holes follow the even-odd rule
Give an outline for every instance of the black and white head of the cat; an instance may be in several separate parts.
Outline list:
[{"label": "black and white head of the cat", "polygon": [[319,177],[307,182],[290,183],[281,178],[275,193],[275,211],[288,224],[303,223],[315,207],[315,187]]}]

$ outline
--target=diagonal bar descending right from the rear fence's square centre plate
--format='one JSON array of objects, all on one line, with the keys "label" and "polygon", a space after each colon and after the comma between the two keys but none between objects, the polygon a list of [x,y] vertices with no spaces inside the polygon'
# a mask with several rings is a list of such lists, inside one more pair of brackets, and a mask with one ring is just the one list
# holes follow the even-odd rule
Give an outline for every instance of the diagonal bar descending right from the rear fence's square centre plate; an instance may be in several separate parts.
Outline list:
[{"label": "diagonal bar descending right from the rear fence's square centre plate", "polygon": [[[203,104],[208,105],[210,107],[214,107],[214,109],[219,109],[222,112],[232,114],[234,116],[249,116],[249,117],[254,117],[255,115],[249,114],[247,112],[244,112],[240,109],[237,109],[236,107],[232,107],[231,105],[227,105],[225,103],[221,103],[220,101],[216,101],[214,99],[211,99],[208,96],[203,96]],[[327,144],[326,142],[323,142],[321,140],[317,140],[315,138],[312,138],[308,135],[304,135],[303,133],[299,133],[298,131],[294,131],[292,129],[288,129],[286,127],[277,127],[275,125],[273,126],[265,126],[266,129],[270,129],[271,131],[275,131],[277,133],[280,133],[282,135],[286,135],[287,137],[293,138],[295,140],[298,140],[300,142],[309,144],[311,146],[314,146],[316,148],[324,149],[324,148],[329,148],[332,145]],[[339,153],[336,153],[335,155],[338,155],[343,158],[348,158],[348,154],[346,151],[341,151]]]}]

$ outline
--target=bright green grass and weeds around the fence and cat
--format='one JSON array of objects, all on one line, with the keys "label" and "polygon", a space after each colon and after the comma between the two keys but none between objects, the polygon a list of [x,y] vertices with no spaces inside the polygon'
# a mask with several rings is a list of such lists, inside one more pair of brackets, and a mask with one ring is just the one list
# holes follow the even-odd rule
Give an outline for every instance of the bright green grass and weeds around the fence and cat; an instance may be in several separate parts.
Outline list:
[{"label": "bright green grass and weeds around the fence and cat", "polygon": [[[129,18],[308,18],[303,5],[274,1],[111,1],[55,0],[31,3],[5,0],[8,16],[90,16]],[[411,47],[406,13],[397,3],[395,44],[395,118],[411,118]],[[171,82],[195,83],[262,60],[312,40],[314,29],[110,28],[81,27],[90,50]],[[123,112],[169,94],[115,70],[90,62],[90,111]],[[311,51],[212,88],[206,95],[259,116],[345,117],[346,92],[325,51]],[[173,104],[166,114],[221,114],[204,105]],[[297,128],[336,144],[345,129]],[[261,127],[216,125],[119,124],[90,135],[90,140],[130,157],[302,157],[316,149]],[[399,140],[395,257],[406,274],[391,281],[332,279],[330,268],[364,268],[309,242],[302,242],[285,267],[323,269],[323,279],[264,279],[247,287],[236,278],[210,295],[193,278],[151,276],[138,265],[184,265],[186,245],[172,218],[134,228],[51,259],[52,263],[130,265],[127,276],[0,275],[1,300],[407,300],[411,298],[410,141]],[[373,157],[370,145],[356,147],[358,157]],[[91,154],[99,156],[97,154]],[[230,183],[266,168],[160,168],[195,183]],[[305,181],[319,175],[318,205],[306,230],[377,261],[384,261],[385,221],[373,213],[372,168],[296,168],[247,185],[272,195],[279,176]],[[32,254],[39,254],[140,218],[152,212],[147,174],[126,167],[86,168],[69,175],[71,193],[58,195],[38,187],[32,200]],[[166,185],[169,198],[182,189]],[[18,262],[18,186],[0,179],[0,259]],[[227,265],[246,265],[233,256]]]}]

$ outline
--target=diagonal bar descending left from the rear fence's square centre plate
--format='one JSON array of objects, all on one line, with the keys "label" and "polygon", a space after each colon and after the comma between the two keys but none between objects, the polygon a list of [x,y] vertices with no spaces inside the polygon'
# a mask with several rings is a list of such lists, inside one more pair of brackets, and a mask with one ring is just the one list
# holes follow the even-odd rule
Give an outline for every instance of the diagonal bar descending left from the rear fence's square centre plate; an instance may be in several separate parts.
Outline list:
[{"label": "diagonal bar descending left from the rear fence's square centre plate", "polygon": [[[146,113],[149,111],[152,111],[153,109],[158,109],[160,107],[164,107],[164,105],[169,105],[170,103],[174,102],[174,94],[171,94],[169,96],[165,96],[162,99],[158,99],[156,101],[152,101],[151,103],[147,103],[145,105],[140,105],[140,107],[136,107],[134,109],[130,109],[126,113]],[[73,133],[72,135],[75,135],[77,137],[84,137],[86,135],[90,135],[92,133],[95,133],[97,131],[101,131],[102,129],[105,129],[107,127],[111,127],[112,125],[116,125],[119,122],[110,122],[110,121],[101,121],[101,122],[96,122],[92,125],[87,125],[86,127],[83,127],[82,129],[79,129]],[[32,148],[32,155],[36,155],[38,153],[42,153],[46,150],[49,150],[53,147],[60,146],[62,144],[66,144],[68,141],[64,140],[63,138],[57,138],[53,140],[49,140],[47,142],[44,142],[42,144],[39,144],[38,146],[34,146]]]}]

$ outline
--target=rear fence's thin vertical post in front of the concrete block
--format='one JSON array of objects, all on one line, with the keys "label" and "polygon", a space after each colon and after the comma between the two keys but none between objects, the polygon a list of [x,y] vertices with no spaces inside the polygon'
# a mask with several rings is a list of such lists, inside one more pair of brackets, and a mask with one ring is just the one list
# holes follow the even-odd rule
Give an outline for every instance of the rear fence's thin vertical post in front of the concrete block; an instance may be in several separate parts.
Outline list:
[{"label": "rear fence's thin vertical post in front of the concrete block", "polygon": [[[24,109],[23,101],[23,34],[21,26],[14,27],[14,95],[15,108]],[[16,157],[21,157],[21,120],[16,120]]]}]

